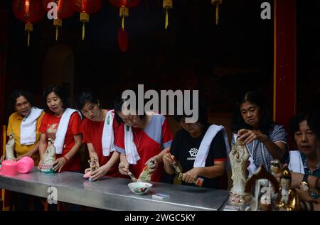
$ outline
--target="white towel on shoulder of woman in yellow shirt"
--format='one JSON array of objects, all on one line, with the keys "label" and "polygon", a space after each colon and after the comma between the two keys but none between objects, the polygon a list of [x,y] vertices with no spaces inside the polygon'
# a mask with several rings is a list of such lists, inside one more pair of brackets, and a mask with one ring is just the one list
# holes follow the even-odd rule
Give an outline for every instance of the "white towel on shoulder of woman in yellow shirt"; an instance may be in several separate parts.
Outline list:
[{"label": "white towel on shoulder of woman in yellow shirt", "polygon": [[30,114],[25,116],[20,125],[21,145],[33,145],[36,142],[37,119],[41,116],[43,109],[32,107]]}]

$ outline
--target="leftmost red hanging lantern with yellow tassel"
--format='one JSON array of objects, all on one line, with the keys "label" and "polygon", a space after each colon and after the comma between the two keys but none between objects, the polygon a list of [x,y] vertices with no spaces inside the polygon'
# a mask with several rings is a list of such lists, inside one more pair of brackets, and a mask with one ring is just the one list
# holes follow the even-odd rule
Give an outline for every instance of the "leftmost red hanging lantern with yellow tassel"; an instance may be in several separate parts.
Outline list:
[{"label": "leftmost red hanging lantern with yellow tassel", "polygon": [[45,16],[41,0],[14,0],[12,11],[16,18],[26,23],[24,31],[28,33],[27,43],[30,46],[30,32],[33,31],[33,23],[38,23]]}]

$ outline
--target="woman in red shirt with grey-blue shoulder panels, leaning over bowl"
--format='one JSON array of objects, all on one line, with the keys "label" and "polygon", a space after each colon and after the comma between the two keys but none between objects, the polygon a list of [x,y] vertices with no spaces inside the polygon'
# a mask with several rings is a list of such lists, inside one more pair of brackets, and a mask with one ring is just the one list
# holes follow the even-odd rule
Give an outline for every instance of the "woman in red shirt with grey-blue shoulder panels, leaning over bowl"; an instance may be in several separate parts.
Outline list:
[{"label": "woman in red shirt with grey-blue shoulder panels, leaning over bowl", "polygon": [[[114,107],[117,113],[116,119],[122,122],[115,146],[117,152],[121,153],[122,163],[119,164],[119,172],[122,175],[129,175],[129,172],[132,172],[134,177],[138,178],[145,165],[154,160],[155,164],[149,170],[152,174],[151,181],[160,182],[164,170],[162,156],[169,150],[173,139],[168,121],[164,115],[152,112],[135,115],[137,109],[134,114],[128,114],[122,110],[122,104],[124,100],[119,99]],[[128,141],[129,138],[131,141]],[[134,146],[133,151],[130,150],[131,146]]]}]

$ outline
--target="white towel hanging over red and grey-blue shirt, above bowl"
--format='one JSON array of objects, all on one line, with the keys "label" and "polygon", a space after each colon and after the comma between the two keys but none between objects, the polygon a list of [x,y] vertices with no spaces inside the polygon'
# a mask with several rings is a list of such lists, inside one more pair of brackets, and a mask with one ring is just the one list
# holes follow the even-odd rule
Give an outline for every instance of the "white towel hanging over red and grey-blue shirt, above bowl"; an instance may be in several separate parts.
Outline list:
[{"label": "white towel hanging over red and grey-blue shirt, above bowl", "polygon": [[140,155],[138,153],[137,147],[134,144],[134,136],[132,133],[131,126],[124,124],[124,148],[126,150],[126,157],[129,164],[137,164],[140,160]]}]

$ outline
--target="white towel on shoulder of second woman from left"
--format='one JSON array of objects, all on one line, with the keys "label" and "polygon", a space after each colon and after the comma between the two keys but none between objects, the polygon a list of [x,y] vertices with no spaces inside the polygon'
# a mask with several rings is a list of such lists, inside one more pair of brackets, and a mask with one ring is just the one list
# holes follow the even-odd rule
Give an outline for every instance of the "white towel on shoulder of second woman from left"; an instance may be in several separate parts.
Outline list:
[{"label": "white towel on shoulder of second woman from left", "polygon": [[65,134],[67,133],[69,121],[71,115],[77,110],[67,108],[65,109],[65,112],[63,113],[63,116],[60,119],[60,123],[57,129],[57,133],[55,133],[55,153],[62,154],[63,152],[63,146],[65,143]]}]

